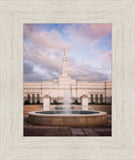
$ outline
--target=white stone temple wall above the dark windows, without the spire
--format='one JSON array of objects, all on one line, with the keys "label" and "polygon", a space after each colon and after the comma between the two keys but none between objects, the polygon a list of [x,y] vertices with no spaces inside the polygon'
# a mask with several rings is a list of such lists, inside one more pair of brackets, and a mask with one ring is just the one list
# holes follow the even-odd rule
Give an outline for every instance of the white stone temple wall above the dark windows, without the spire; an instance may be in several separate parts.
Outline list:
[{"label": "white stone temple wall above the dark windows, without the spire", "polygon": [[[105,89],[105,83],[106,83],[106,89]],[[65,85],[62,84],[59,86],[59,84],[53,84],[48,82],[24,82],[24,97],[27,97],[28,94],[32,97],[32,94],[35,94],[35,97],[37,97],[37,94],[40,95],[40,97],[43,97],[46,93],[48,93],[52,98],[53,97],[63,97],[64,96],[64,90],[71,90],[71,96],[74,98],[80,98],[85,92],[86,95],[88,95],[89,98],[91,98],[91,95],[93,95],[93,99],[95,100],[96,94],[98,95],[98,101],[100,98],[100,94],[102,94],[103,99],[111,98],[112,96],[112,84],[111,81],[109,82],[88,82],[86,83],[77,83],[76,86],[72,86],[72,84]],[[96,86],[97,85],[97,86]],[[105,100],[104,100],[105,101]]]}]

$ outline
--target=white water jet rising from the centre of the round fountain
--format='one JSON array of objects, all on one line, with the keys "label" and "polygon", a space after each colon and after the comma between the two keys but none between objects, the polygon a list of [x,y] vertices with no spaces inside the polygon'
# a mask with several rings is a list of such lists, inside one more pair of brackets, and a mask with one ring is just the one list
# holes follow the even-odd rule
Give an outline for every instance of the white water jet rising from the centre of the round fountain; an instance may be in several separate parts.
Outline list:
[{"label": "white water jet rising from the centre of the round fountain", "polygon": [[71,91],[64,91],[64,106],[63,106],[63,114],[72,114],[71,112]]}]

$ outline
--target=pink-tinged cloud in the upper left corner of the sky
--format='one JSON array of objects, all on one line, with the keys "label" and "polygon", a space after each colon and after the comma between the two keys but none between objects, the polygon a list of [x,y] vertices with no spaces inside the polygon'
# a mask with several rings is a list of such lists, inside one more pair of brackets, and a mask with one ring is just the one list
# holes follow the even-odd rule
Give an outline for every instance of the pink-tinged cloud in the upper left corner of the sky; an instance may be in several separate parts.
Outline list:
[{"label": "pink-tinged cloud in the upper left corner of the sky", "polygon": [[43,30],[42,32],[38,32],[34,28],[34,25],[29,24],[24,25],[24,38],[30,40],[34,45],[45,48],[61,50],[70,47],[70,44],[62,39],[58,31],[51,30],[50,32],[47,32],[46,30]]}]

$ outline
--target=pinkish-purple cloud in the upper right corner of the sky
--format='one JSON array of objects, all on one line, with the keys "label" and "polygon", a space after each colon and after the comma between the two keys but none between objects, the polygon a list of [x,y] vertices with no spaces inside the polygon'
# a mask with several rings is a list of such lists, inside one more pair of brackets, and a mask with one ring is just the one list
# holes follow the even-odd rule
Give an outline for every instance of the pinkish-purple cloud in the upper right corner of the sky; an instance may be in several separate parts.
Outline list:
[{"label": "pinkish-purple cloud in the upper right corner of the sky", "polygon": [[93,44],[108,36],[112,31],[111,24],[74,24],[67,26],[64,32],[70,34],[70,38],[83,44]]}]

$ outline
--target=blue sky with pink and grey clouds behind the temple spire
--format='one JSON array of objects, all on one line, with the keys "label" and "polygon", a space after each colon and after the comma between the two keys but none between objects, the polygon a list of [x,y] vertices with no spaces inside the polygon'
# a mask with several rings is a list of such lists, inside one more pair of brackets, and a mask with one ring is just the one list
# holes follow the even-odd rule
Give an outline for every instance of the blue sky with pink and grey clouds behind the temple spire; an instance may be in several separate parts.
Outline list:
[{"label": "blue sky with pink and grey clouds behind the temple spire", "polygon": [[71,78],[111,80],[111,24],[24,24],[23,29],[24,81],[58,79],[64,48]]}]

